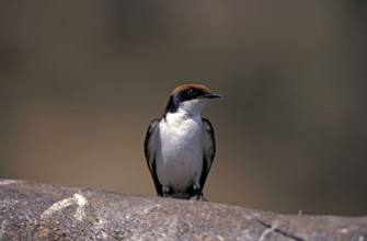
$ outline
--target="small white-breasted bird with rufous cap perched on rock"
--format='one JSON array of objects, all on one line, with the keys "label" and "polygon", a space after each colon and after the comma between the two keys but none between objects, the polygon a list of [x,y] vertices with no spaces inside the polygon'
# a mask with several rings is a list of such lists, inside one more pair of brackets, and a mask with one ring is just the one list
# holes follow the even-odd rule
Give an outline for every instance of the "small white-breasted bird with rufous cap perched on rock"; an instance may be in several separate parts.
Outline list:
[{"label": "small white-breasted bird with rufous cap perched on rock", "polygon": [[163,116],[150,122],[144,149],[158,196],[207,200],[205,181],[216,154],[211,123],[200,113],[221,97],[203,84],[176,87]]}]

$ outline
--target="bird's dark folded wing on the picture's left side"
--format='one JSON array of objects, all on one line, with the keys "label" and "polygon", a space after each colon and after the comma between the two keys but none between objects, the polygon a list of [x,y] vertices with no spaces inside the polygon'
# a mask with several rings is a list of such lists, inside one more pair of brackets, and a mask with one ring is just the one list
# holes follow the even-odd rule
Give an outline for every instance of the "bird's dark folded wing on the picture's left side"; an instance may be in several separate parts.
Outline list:
[{"label": "bird's dark folded wing on the picture's left side", "polygon": [[146,140],[144,142],[144,153],[146,156],[147,159],[147,164],[150,171],[150,174],[154,181],[154,186],[156,186],[156,191],[157,194],[159,196],[162,196],[162,185],[160,184],[158,176],[157,176],[157,169],[156,169],[156,151],[157,151],[157,141],[154,145],[154,139],[158,138],[158,124],[159,124],[159,119],[156,118],[153,120],[151,120],[151,123],[149,124],[147,134],[146,134]]}]

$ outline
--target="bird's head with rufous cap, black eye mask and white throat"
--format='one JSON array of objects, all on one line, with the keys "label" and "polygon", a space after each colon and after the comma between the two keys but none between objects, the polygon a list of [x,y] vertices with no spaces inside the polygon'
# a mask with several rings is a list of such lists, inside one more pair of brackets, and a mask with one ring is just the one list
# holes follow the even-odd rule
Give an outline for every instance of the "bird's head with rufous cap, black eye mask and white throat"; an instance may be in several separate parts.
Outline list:
[{"label": "bird's head with rufous cap, black eye mask and white throat", "polygon": [[221,95],[203,84],[182,84],[172,91],[165,113],[200,114],[209,100],[215,97],[221,97]]}]

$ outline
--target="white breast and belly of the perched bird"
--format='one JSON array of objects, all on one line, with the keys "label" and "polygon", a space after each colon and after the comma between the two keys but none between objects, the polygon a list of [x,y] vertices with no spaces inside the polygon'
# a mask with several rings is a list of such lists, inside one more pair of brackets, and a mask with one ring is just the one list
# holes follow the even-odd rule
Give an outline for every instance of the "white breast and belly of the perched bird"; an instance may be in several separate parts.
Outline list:
[{"label": "white breast and belly of the perched bird", "polygon": [[160,125],[157,174],[162,185],[184,192],[198,183],[203,170],[202,118]]}]

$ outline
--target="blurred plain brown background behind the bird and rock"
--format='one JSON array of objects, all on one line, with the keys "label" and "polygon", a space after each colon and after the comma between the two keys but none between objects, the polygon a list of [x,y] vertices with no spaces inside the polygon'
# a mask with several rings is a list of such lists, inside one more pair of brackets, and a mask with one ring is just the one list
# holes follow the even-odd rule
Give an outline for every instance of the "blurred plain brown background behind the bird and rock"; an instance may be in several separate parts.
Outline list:
[{"label": "blurred plain brown background behind the bird and rock", "polygon": [[0,177],[156,195],[148,124],[203,83],[210,200],[367,215],[366,43],[360,0],[1,1]]}]

